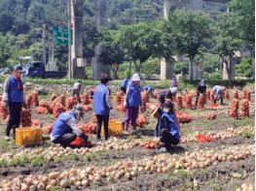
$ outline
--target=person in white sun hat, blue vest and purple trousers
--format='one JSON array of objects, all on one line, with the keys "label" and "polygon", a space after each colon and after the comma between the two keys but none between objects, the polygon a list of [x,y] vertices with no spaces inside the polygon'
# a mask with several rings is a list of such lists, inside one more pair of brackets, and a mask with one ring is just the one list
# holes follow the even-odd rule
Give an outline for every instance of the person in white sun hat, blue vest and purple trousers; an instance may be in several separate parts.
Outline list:
[{"label": "person in white sun hat, blue vest and purple trousers", "polygon": [[126,111],[125,133],[128,133],[128,125],[131,123],[132,130],[136,129],[136,119],[141,106],[141,79],[138,74],[133,74],[128,84],[124,106]]}]

